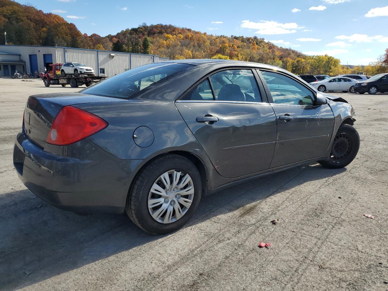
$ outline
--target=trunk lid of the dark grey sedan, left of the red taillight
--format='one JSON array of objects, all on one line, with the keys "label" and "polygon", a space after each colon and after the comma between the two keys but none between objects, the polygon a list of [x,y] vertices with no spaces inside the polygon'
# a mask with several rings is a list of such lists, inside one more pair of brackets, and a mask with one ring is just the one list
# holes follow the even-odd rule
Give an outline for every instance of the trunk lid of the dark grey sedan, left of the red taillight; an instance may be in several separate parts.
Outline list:
[{"label": "trunk lid of the dark grey sedan, left of the red taillight", "polygon": [[28,98],[24,109],[24,133],[31,142],[43,149],[55,116],[62,107],[83,103],[117,102],[120,100],[74,92],[32,95]]}]

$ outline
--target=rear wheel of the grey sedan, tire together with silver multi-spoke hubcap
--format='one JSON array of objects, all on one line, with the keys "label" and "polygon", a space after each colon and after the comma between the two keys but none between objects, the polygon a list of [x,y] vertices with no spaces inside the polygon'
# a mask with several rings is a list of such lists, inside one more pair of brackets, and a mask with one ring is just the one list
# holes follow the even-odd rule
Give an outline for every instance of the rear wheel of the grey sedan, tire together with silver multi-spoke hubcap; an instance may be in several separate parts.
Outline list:
[{"label": "rear wheel of the grey sedan, tire together with silver multi-spoke hubcap", "polygon": [[196,166],[189,159],[168,154],[156,158],[135,177],[125,211],[144,231],[166,234],[189,221],[201,192]]}]

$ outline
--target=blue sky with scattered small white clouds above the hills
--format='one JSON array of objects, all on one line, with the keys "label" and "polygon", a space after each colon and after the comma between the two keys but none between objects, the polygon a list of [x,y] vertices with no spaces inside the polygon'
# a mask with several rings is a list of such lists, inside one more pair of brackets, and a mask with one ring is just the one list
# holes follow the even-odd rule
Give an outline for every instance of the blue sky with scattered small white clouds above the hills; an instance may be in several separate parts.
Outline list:
[{"label": "blue sky with scattered small white clouds above the hills", "polygon": [[[20,3],[24,3],[19,1]],[[342,64],[368,64],[388,48],[388,0],[29,0],[44,12],[101,36],[141,23],[173,24],[214,35],[258,36]]]}]

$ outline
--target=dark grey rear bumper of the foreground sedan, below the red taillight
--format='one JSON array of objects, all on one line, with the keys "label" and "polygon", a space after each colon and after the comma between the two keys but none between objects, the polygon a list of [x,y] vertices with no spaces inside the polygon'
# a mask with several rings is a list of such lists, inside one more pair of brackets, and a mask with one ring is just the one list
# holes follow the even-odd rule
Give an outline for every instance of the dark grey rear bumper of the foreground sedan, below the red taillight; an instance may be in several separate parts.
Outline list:
[{"label": "dark grey rear bumper of the foreground sedan, below the red taillight", "polygon": [[114,158],[88,140],[74,144],[76,158],[43,151],[23,134],[14,145],[14,166],[36,196],[74,212],[122,213],[135,170],[144,160]]}]

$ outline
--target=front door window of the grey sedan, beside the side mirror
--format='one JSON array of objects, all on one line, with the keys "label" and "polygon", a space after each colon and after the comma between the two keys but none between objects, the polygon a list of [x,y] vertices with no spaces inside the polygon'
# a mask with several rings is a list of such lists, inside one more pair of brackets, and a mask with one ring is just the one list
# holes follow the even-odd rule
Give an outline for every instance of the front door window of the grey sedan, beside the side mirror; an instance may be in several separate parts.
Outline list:
[{"label": "front door window of the grey sedan, beside the side mirror", "polygon": [[301,83],[275,72],[261,71],[275,104],[314,105],[314,94]]}]

